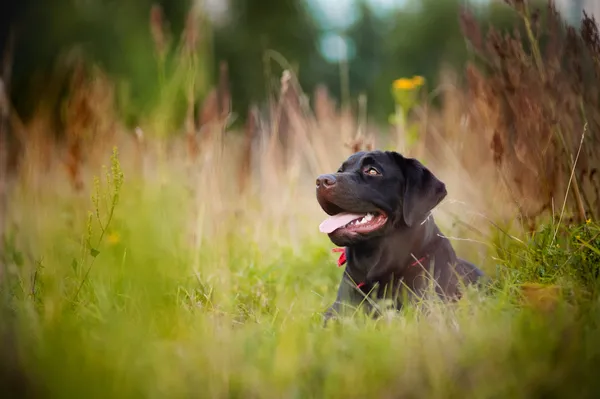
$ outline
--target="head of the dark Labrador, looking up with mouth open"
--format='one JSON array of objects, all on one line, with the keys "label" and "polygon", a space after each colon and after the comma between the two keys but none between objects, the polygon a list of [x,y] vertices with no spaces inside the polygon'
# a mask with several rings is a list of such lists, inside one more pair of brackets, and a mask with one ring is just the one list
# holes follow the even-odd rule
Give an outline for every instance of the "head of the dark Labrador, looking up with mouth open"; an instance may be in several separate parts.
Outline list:
[{"label": "head of the dark Labrador, looking up with mouth open", "polygon": [[349,246],[421,223],[446,186],[419,161],[392,151],[357,152],[337,173],[317,178],[317,200],[330,215],[320,230]]}]

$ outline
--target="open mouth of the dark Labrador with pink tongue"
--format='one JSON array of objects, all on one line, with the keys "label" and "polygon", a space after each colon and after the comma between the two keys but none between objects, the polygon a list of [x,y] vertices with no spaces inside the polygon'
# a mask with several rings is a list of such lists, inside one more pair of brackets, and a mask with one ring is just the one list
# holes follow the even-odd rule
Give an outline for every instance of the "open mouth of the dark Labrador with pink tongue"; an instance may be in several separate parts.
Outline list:
[{"label": "open mouth of the dark Labrador with pink tongue", "polygon": [[362,233],[380,229],[387,222],[383,212],[350,213],[341,212],[325,219],[319,226],[322,233]]}]

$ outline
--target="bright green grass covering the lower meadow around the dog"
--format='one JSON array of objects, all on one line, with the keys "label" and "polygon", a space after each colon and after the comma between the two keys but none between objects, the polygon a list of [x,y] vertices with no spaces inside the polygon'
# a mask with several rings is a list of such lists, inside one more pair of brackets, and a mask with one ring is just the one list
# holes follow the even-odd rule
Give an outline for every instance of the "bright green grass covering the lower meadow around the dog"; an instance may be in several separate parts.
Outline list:
[{"label": "bright green grass covering the lower meadow around the dog", "polygon": [[[282,198],[231,197],[218,211],[206,186],[194,203],[175,175],[120,186],[115,160],[105,175],[97,200],[60,187],[14,193],[5,320],[15,321],[36,397],[593,397],[600,388],[594,222],[556,241],[556,225],[521,241],[497,231],[487,289],[323,328],[342,270],[316,229],[312,191],[287,214]],[[237,216],[230,203],[241,203]],[[197,246],[190,224],[203,234]],[[523,283],[559,284],[563,295],[536,310],[522,304]]]}]

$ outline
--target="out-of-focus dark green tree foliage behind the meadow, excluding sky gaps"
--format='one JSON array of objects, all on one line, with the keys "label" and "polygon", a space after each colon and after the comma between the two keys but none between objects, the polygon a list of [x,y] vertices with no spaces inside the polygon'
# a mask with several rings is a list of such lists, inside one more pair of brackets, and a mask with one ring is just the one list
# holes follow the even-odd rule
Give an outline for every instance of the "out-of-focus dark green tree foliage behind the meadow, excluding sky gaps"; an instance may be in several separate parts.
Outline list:
[{"label": "out-of-focus dark green tree foliage behind the meadow, excluding sky gaps", "polygon": [[[223,23],[211,26],[203,18],[199,67],[214,83],[216,65],[223,60],[229,64],[233,109],[242,118],[251,102],[266,99],[277,88],[282,69],[291,67],[308,93],[319,83],[338,99],[346,90],[351,98],[366,93],[369,112],[385,122],[393,108],[391,81],[417,74],[435,86],[442,65],[461,67],[466,61],[458,19],[465,2],[413,0],[385,16],[374,13],[366,2],[357,3],[360,18],[356,23],[333,32],[347,37],[355,49],[348,65],[349,87],[341,87],[340,66],[327,62],[319,52],[319,38],[330,31],[319,26],[299,0],[232,0]],[[52,7],[40,0],[22,3],[12,84],[19,114],[27,118],[40,103],[58,106],[68,80],[65,67],[70,58],[66,55],[73,54],[73,48],[118,82],[119,111],[129,125],[155,112],[161,90],[149,27],[153,4],[163,8],[176,42],[184,30],[190,0],[57,0]],[[511,19],[511,11],[503,4],[472,7],[486,23],[498,26]],[[206,89],[201,88],[199,97]],[[180,103],[177,123],[185,113],[185,101]]]}]

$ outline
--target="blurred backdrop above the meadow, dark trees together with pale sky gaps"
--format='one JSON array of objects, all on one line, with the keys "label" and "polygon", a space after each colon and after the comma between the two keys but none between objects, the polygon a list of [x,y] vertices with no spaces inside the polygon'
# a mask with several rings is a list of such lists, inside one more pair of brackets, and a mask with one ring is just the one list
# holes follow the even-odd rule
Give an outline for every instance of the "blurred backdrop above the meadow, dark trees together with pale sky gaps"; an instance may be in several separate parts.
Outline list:
[{"label": "blurred backdrop above the meadow, dark trees together with pale sky gaps", "polygon": [[[556,4],[574,24],[584,7],[590,13],[600,7],[593,0]],[[196,101],[218,81],[225,62],[237,121],[251,102],[266,99],[283,69],[291,69],[307,93],[322,84],[348,104],[365,94],[369,115],[385,122],[394,79],[417,74],[435,87],[440,68],[464,66],[469,56],[461,6],[484,25],[511,26],[502,0],[56,0],[51,7],[26,0],[3,6],[0,48],[5,54],[12,31],[10,95],[24,119],[41,103],[58,107],[65,69],[77,59],[115,81],[118,111],[135,126],[159,101],[157,57],[168,71],[176,47],[187,40],[196,54]],[[152,7],[160,9],[153,20]],[[179,122],[184,97],[176,96]]]}]

